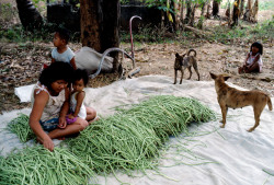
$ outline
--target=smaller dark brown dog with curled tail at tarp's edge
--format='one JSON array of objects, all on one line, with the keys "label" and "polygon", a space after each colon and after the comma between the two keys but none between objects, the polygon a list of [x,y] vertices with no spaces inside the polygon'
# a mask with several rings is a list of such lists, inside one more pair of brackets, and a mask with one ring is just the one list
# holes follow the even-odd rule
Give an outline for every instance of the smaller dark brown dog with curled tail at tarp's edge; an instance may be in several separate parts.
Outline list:
[{"label": "smaller dark brown dog with curled tail at tarp's edge", "polygon": [[[194,56],[190,55],[191,51],[194,53]],[[178,73],[178,70],[180,70],[181,73],[182,73],[181,80],[180,80],[180,84],[182,84],[182,80],[183,80],[183,77],[184,77],[184,70],[185,70],[185,68],[187,68],[189,71],[190,71],[190,77],[189,77],[187,80],[191,79],[191,76],[192,76],[191,67],[194,68],[194,70],[196,71],[196,73],[198,76],[198,80],[199,80],[198,66],[197,66],[197,59],[196,59],[196,50],[190,49],[187,51],[187,54],[184,54],[183,56],[180,56],[178,53],[175,54],[174,84],[176,84],[176,73]]]}]

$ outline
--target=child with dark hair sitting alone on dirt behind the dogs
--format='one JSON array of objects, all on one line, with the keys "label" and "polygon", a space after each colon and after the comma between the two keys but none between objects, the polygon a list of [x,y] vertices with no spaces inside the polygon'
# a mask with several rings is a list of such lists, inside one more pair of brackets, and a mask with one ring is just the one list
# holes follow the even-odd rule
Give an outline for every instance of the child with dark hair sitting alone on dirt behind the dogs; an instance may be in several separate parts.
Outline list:
[{"label": "child with dark hair sitting alone on dirt behind the dogs", "polygon": [[250,72],[261,72],[262,71],[262,55],[263,55],[263,46],[261,43],[253,43],[250,47],[250,53],[248,54],[247,59],[244,60],[244,65],[239,67],[239,73],[250,73]]}]

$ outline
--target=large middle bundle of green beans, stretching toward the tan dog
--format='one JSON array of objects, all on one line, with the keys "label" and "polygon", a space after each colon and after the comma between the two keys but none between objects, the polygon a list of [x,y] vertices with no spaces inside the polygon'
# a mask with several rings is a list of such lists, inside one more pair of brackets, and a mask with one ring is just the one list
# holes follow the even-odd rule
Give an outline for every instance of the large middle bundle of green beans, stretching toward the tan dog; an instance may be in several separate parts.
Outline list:
[{"label": "large middle bundle of green beans, stretching toward the tan dog", "polygon": [[127,174],[132,170],[155,169],[160,149],[187,124],[208,122],[215,114],[198,101],[172,95],[151,97],[129,109],[102,118],[68,141],[70,150],[93,164],[96,173],[114,169]]}]

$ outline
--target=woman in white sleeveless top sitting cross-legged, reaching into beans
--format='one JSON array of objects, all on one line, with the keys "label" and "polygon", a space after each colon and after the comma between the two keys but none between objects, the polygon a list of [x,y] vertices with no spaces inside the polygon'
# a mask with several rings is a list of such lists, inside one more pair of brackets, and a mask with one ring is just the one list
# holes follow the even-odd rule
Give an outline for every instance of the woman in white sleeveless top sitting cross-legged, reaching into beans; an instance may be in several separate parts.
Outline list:
[{"label": "woman in white sleeveless top sitting cross-legged, reaching into beans", "polygon": [[[30,127],[46,149],[53,151],[53,139],[78,134],[89,126],[88,122],[77,118],[67,125],[69,111],[69,88],[73,69],[66,62],[54,62],[44,69],[39,81],[32,92]],[[95,111],[92,112],[95,117]]]}]

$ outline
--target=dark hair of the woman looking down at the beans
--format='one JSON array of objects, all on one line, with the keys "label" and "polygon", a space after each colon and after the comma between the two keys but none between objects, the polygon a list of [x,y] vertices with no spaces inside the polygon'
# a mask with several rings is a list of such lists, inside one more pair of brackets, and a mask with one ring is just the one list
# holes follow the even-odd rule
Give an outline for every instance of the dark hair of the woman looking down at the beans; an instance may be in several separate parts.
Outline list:
[{"label": "dark hair of the woman looking down at the beans", "polygon": [[48,90],[52,90],[52,83],[57,80],[65,80],[68,84],[71,84],[73,73],[73,68],[68,62],[56,61],[49,67],[44,69],[39,76],[41,84],[47,86]]}]

